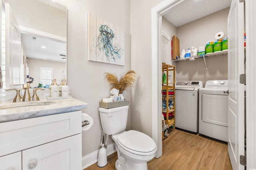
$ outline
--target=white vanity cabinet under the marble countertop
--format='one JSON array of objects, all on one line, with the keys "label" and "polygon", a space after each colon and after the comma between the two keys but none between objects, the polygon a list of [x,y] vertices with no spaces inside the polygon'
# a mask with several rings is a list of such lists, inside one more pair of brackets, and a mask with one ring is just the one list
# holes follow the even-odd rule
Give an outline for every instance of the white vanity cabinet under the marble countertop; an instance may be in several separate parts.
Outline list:
[{"label": "white vanity cabinet under the marble countertop", "polygon": [[0,170],[81,170],[81,111],[0,123]]}]

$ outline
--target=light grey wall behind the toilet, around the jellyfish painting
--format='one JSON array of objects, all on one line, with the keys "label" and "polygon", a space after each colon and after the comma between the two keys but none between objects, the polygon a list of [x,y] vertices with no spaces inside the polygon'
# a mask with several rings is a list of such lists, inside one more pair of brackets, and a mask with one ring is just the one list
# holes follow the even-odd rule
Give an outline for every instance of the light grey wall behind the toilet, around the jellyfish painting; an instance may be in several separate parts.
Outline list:
[{"label": "light grey wall behind the toilet, around the jellyfish painting", "polygon": [[[115,73],[120,78],[131,69],[130,1],[66,0],[63,3],[68,7],[68,86],[71,88],[73,98],[88,104],[88,108],[83,109],[82,112],[88,113],[94,119],[91,129],[82,131],[82,156],[85,156],[100,149],[102,134],[98,112],[99,101],[110,96],[110,88],[104,80],[104,72]],[[125,30],[125,66],[88,61],[88,13],[108,20]],[[125,99],[131,99],[130,91],[124,92]],[[130,129],[130,123],[129,113],[127,129]],[[111,138],[109,143],[112,143]]]}]

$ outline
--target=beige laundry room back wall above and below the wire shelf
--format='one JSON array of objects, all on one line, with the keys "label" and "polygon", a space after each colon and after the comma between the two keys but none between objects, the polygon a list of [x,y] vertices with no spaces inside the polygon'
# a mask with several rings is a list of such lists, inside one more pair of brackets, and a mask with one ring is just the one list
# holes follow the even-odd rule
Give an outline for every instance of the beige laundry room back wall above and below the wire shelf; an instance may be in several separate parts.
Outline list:
[{"label": "beige laundry room back wall above and below the wire shelf", "polygon": [[[228,35],[229,8],[220,10],[214,14],[192,21],[177,27],[177,37],[180,39],[180,51],[192,46],[198,48],[206,45],[207,41],[214,41],[215,34],[223,31]],[[176,65],[176,80],[201,80],[204,85],[207,80],[228,79],[228,57],[206,58],[208,70],[205,69],[203,59],[195,61],[173,62]]]}]

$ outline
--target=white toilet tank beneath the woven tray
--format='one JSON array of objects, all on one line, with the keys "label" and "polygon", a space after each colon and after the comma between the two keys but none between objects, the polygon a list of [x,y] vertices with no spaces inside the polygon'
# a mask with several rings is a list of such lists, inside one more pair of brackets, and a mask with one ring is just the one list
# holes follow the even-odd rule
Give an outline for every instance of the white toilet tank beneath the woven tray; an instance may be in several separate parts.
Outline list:
[{"label": "white toilet tank beneath the woven tray", "polygon": [[99,108],[102,131],[107,135],[114,135],[126,129],[129,106]]}]

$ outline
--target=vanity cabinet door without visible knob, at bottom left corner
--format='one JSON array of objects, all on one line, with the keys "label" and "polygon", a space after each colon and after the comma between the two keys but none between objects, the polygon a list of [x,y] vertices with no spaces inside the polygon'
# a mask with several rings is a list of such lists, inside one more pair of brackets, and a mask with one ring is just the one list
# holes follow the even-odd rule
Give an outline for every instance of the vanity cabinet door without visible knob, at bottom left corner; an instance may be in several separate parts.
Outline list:
[{"label": "vanity cabinet door without visible knob, at bottom left corner", "polygon": [[0,157],[0,170],[22,170],[21,151]]}]

